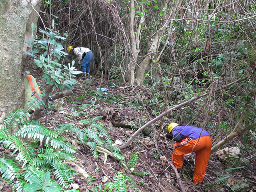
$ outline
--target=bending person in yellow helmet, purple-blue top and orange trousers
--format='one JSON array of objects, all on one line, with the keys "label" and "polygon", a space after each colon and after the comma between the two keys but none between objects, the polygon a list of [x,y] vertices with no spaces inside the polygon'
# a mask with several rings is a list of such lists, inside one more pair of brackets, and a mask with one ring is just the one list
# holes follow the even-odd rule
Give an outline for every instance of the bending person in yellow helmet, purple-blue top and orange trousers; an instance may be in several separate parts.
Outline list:
[{"label": "bending person in yellow helmet, purple-blue top and orange trousers", "polygon": [[209,133],[194,126],[181,126],[172,122],[168,132],[176,141],[173,148],[172,163],[177,169],[183,166],[184,154],[195,152],[194,183],[202,183],[211,154],[212,140]]}]

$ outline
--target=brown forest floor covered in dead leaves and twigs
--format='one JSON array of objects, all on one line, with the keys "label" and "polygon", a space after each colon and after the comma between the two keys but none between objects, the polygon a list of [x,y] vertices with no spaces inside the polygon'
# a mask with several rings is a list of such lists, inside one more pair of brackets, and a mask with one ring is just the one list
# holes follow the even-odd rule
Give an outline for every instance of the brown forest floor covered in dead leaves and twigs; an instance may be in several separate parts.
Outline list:
[{"label": "brown forest floor covered in dead leaves and twigs", "polygon": [[[124,119],[133,121],[140,118],[146,118],[150,121],[154,118],[150,113],[138,113],[132,107],[124,107],[117,102],[107,102],[106,99],[100,100],[92,95],[84,94],[86,92],[82,93],[83,90],[96,90],[98,87],[104,87],[100,79],[93,78],[92,80],[92,84],[88,85],[85,84],[85,80],[78,79],[78,84],[74,87],[75,94],[73,96],[69,96],[66,101],[54,101],[54,105],[58,107],[55,107],[48,114],[48,128],[54,128],[63,123],[77,123],[79,120],[85,119],[83,115],[74,117],[72,115],[70,116],[70,113],[75,107],[95,102],[94,105],[88,105],[84,110],[89,112],[91,118],[99,115],[103,116],[100,122],[108,130],[112,141],[114,143],[116,141],[125,143],[135,130],[132,128],[114,126],[113,122],[122,122]],[[106,88],[109,90],[104,92],[105,95],[119,98],[120,101],[129,98],[132,89],[138,89],[119,88],[117,86]],[[143,92],[145,90],[137,91]],[[40,121],[44,125],[45,118],[41,118]],[[215,138],[216,135],[211,136]],[[238,137],[230,141],[224,147],[236,146],[236,143],[243,142],[243,138]],[[123,173],[123,175],[126,175],[127,181],[129,178],[132,180],[132,182],[130,182],[131,180],[127,182],[127,192],[180,192],[174,170],[161,158],[165,156],[168,160],[171,160],[173,143],[174,142],[169,139],[165,130],[162,130],[159,134],[159,129],[156,127],[153,127],[150,134],[147,136],[142,133],[139,134],[128,147],[121,150],[126,162],[130,160],[132,154],[138,154],[139,160],[134,166],[134,169],[138,171],[137,175],[132,174],[130,170],[120,165],[118,160],[110,156],[107,157],[106,163],[104,163],[103,153],[99,153],[99,158],[94,158],[89,147],[80,145],[77,147],[75,157],[79,159],[79,166],[83,168],[90,177],[85,179],[77,175],[73,183],[80,186],[80,192],[92,192],[94,188],[92,183],[98,186],[101,184],[104,189],[104,182],[105,184],[107,182],[114,182],[114,176],[118,173]],[[250,145],[253,146],[252,143],[248,145],[249,148]],[[240,161],[238,165],[235,166],[227,166],[220,162],[215,154],[211,154],[203,184],[194,184],[192,182],[195,155],[189,154],[185,156],[184,166],[182,172],[180,172],[182,183],[188,192],[227,192],[232,191],[230,187],[235,189],[235,185],[247,184],[250,187],[248,189],[245,187],[244,190],[240,189],[241,192],[256,192],[255,152],[255,149],[245,150],[242,154],[242,158],[252,158],[247,158],[248,163]],[[72,167],[72,165],[70,166]],[[232,167],[233,170],[227,170],[230,167]],[[142,176],[143,172],[146,173],[145,176]],[[232,176],[226,178],[230,175]],[[102,178],[107,179],[107,181],[102,181]],[[218,178],[219,181],[216,182]],[[4,184],[0,183],[0,185]],[[7,191],[8,190],[6,190],[6,192]]]}]

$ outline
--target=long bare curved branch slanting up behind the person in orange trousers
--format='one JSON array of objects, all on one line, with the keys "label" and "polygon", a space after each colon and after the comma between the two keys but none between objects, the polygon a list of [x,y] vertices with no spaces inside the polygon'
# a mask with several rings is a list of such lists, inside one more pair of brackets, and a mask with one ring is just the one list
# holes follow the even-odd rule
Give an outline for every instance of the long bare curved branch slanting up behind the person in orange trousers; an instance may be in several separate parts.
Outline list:
[{"label": "long bare curved branch slanting up behind the person in orange trousers", "polygon": [[[236,80],[236,81],[233,81],[233,82],[231,82],[231,83],[229,83],[229,84],[223,86],[222,89],[224,89],[225,87],[228,87],[228,86],[230,86],[230,85],[233,85],[233,84],[235,84],[235,83],[237,83],[237,82],[239,82],[239,81],[242,81],[242,80],[244,80],[244,79],[246,79],[246,78],[247,78],[247,77],[238,79],[238,80]],[[127,141],[126,143],[124,143],[123,145],[119,146],[119,148],[120,148],[120,149],[126,148],[126,147],[131,143],[131,141],[132,141],[143,129],[145,129],[146,127],[148,127],[148,126],[151,125],[152,123],[156,122],[157,120],[159,120],[159,119],[160,119],[161,117],[163,117],[164,115],[166,115],[166,114],[172,112],[173,110],[178,109],[178,108],[180,108],[180,107],[182,107],[182,106],[186,106],[186,105],[188,105],[188,104],[190,104],[190,103],[192,103],[192,102],[198,100],[199,98],[202,98],[202,97],[204,97],[204,96],[207,96],[207,95],[209,95],[210,93],[219,91],[220,89],[221,89],[221,88],[216,88],[216,89],[214,89],[212,92],[207,92],[207,93],[205,93],[205,94],[202,94],[202,95],[200,95],[200,96],[197,96],[197,97],[195,97],[195,98],[192,98],[192,99],[190,99],[190,100],[188,100],[188,101],[186,101],[186,102],[184,102],[184,103],[181,103],[181,104],[179,104],[179,105],[177,105],[177,106],[175,106],[175,107],[172,107],[172,108],[168,109],[168,110],[165,111],[164,113],[160,114],[159,116],[157,116],[156,118],[152,119],[151,121],[149,121],[148,123],[146,123],[144,126],[142,126],[141,128],[139,128],[139,129],[128,139],[128,141]]]}]

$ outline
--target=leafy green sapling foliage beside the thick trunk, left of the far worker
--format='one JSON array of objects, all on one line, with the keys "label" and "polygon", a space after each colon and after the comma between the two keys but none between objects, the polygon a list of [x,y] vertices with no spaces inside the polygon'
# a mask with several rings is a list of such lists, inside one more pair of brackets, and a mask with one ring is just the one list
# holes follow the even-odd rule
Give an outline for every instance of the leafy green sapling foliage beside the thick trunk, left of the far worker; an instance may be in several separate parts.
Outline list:
[{"label": "leafy green sapling foliage beside the thick trunk, left of the far worker", "polygon": [[[54,29],[54,20],[52,24]],[[73,85],[76,84],[76,80],[73,77],[82,72],[75,69],[74,61],[67,66],[60,64],[62,56],[68,54],[62,51],[64,48],[59,41],[66,40],[66,38],[60,36],[59,32],[53,29],[39,29],[41,36],[38,37],[37,35],[36,39],[26,42],[33,47],[31,52],[26,53],[35,58],[35,64],[44,71],[42,79],[46,80],[47,84],[55,85],[59,89],[65,87],[68,90],[72,90]],[[32,28],[32,30],[34,29]]]}]

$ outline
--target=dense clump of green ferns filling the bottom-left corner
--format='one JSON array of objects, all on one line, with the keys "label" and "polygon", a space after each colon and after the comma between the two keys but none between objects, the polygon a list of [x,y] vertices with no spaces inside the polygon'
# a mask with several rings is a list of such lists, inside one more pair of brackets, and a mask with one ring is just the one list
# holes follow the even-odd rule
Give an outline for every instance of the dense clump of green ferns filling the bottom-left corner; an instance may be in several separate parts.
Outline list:
[{"label": "dense clump of green ferns filling the bottom-left corner", "polygon": [[[74,160],[72,153],[75,152],[75,149],[69,143],[64,142],[64,137],[59,136],[56,132],[44,128],[35,121],[26,122],[25,120],[28,118],[26,115],[29,114],[23,110],[13,111],[6,116],[3,120],[4,124],[0,126],[1,147],[10,150],[11,156],[13,156],[13,159],[4,157],[0,159],[2,178],[9,182],[15,182],[13,190],[20,192],[33,177],[35,180],[30,182],[32,184],[30,187],[36,190],[38,186],[35,188],[33,186],[37,180],[42,178],[48,180],[47,175],[43,177],[43,171],[47,172],[52,169],[59,189],[62,189],[60,186],[68,187],[73,179],[74,171],[63,164],[63,161]],[[19,130],[15,135],[9,135],[10,127],[19,128]],[[45,142],[44,148],[40,147],[38,142]],[[48,185],[45,180],[42,181],[44,182],[40,183],[42,191],[46,187],[53,187],[52,184]]]}]

